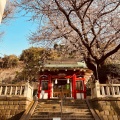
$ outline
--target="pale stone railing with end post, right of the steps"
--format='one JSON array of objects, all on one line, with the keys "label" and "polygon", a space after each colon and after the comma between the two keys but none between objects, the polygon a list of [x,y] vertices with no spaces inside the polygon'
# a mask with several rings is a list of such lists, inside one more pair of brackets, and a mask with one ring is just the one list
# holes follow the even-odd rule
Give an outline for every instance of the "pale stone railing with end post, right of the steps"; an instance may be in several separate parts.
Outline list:
[{"label": "pale stone railing with end post, right of the steps", "polygon": [[100,84],[96,81],[91,85],[91,97],[120,97],[120,84]]}]

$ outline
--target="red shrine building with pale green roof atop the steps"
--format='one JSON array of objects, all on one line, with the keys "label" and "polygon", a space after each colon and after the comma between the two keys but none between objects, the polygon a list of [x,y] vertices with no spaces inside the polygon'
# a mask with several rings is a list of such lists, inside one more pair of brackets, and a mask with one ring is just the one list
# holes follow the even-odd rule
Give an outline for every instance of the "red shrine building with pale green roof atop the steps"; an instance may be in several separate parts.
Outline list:
[{"label": "red shrine building with pale green roof atop the steps", "polygon": [[39,72],[38,98],[85,99],[91,73],[83,62],[45,64]]}]

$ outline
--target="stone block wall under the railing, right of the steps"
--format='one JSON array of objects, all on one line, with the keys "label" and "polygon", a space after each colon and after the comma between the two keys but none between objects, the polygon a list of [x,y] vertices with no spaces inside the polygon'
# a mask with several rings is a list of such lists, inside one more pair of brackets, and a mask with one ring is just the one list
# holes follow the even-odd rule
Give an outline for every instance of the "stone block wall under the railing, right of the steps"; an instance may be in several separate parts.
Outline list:
[{"label": "stone block wall under the railing, right of the steps", "polygon": [[101,120],[120,120],[120,98],[96,98],[90,103]]}]

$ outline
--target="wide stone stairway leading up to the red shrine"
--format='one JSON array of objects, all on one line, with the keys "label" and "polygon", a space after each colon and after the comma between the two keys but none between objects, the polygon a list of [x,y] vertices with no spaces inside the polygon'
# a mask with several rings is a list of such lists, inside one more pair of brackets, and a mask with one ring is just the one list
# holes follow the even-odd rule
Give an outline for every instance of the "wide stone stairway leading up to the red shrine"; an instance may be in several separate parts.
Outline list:
[{"label": "wide stone stairway leading up to the red shrine", "polygon": [[54,120],[53,118],[94,120],[85,100],[39,100],[29,120]]}]

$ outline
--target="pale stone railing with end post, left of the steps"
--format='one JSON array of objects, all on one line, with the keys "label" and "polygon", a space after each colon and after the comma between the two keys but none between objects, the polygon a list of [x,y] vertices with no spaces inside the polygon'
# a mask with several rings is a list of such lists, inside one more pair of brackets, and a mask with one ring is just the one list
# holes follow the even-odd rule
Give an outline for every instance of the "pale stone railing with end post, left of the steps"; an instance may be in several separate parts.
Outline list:
[{"label": "pale stone railing with end post, left of the steps", "polygon": [[32,99],[33,88],[25,84],[0,84],[0,96],[21,96]]}]

